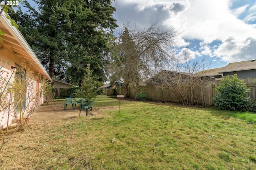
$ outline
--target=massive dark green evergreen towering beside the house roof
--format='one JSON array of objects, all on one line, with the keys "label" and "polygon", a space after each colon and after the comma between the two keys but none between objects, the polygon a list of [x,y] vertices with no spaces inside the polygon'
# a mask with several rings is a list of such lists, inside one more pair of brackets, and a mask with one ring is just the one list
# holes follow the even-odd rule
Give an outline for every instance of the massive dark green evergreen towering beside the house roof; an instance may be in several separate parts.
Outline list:
[{"label": "massive dark green evergreen towering beside the house roof", "polygon": [[12,17],[51,77],[82,84],[86,66],[104,80],[103,56],[108,39],[117,27],[111,0],[33,0],[38,10],[25,1]]}]

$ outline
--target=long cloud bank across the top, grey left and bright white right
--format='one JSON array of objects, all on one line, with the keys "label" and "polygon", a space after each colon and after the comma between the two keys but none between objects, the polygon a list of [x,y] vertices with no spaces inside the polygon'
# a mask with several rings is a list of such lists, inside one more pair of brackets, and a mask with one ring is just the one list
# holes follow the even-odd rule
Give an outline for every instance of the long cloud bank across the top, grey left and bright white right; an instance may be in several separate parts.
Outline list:
[{"label": "long cloud bank across the top, grey left and bright white right", "polygon": [[[229,10],[229,0],[115,0],[115,18],[120,22],[131,20],[137,25],[148,25],[158,21],[168,27],[174,26],[182,32],[183,38],[200,39],[210,43],[227,36],[240,37],[256,35],[252,25],[239,20]],[[245,8],[245,6],[244,6]],[[254,7],[250,8],[251,10]],[[242,10],[240,9],[240,12]],[[120,15],[121,14],[121,15]],[[254,16],[248,16],[252,20]]]}]

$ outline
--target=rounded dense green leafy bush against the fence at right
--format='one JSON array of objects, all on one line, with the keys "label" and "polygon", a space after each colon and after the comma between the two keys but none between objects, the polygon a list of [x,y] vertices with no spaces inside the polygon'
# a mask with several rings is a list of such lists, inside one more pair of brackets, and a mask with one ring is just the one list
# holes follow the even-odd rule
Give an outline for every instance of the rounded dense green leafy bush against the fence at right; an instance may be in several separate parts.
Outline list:
[{"label": "rounded dense green leafy bush against the fence at right", "polygon": [[220,109],[246,111],[251,104],[251,99],[247,95],[250,88],[237,77],[237,74],[225,76],[215,90],[217,95],[212,99],[212,103]]}]

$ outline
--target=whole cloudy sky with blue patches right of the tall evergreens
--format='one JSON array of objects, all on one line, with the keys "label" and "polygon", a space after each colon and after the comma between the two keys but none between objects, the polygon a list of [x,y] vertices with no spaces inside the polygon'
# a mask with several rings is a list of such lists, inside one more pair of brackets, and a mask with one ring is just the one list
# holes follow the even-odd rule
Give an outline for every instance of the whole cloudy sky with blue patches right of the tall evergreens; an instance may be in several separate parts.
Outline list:
[{"label": "whole cloudy sky with blue patches right of the tall evergreens", "polygon": [[118,25],[157,21],[178,29],[176,54],[188,45],[194,60],[206,58],[211,68],[256,59],[255,0],[115,0],[112,5]]}]

